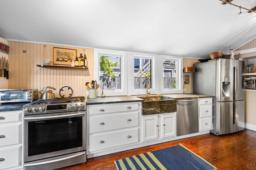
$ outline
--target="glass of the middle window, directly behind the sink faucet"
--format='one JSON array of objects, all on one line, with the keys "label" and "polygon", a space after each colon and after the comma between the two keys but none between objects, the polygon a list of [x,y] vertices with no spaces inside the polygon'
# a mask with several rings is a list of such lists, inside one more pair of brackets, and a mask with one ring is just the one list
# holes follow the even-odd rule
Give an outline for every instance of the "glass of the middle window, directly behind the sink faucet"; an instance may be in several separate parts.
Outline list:
[{"label": "glass of the middle window, directly behind the sink faucet", "polygon": [[134,88],[151,88],[151,59],[134,58]]}]

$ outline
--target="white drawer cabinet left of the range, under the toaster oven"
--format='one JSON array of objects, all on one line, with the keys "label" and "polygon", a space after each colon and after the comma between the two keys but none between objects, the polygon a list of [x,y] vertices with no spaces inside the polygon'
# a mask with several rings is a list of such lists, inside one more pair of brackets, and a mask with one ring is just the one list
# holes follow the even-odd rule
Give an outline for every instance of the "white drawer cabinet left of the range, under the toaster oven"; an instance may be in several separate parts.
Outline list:
[{"label": "white drawer cabinet left of the range, under the toaster oven", "polygon": [[22,111],[0,112],[0,170],[23,169]]}]

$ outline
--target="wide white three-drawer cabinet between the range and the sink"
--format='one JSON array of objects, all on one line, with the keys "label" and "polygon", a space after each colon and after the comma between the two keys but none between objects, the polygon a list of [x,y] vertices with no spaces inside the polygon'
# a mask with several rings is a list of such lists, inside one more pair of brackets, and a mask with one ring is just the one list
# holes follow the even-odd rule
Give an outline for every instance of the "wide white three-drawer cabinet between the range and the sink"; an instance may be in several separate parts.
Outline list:
[{"label": "wide white three-drawer cabinet between the range and the sink", "polygon": [[139,142],[141,102],[87,105],[86,114],[87,154]]}]

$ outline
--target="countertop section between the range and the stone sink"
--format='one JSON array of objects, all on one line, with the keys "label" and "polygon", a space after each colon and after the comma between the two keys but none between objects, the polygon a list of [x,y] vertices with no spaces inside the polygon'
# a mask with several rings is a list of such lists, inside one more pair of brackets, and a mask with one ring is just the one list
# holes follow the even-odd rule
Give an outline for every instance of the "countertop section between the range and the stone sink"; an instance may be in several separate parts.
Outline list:
[{"label": "countertop section between the range and the stone sink", "polygon": [[110,96],[105,98],[87,98],[87,105],[92,104],[110,104],[110,103],[124,103],[124,102],[143,102],[143,99],[135,96]]}]

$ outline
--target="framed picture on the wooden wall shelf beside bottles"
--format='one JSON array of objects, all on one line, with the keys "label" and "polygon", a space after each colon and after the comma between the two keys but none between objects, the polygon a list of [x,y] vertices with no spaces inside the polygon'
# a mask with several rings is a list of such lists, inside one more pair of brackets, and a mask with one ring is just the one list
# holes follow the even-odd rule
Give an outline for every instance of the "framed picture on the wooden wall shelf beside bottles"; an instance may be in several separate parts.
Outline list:
[{"label": "framed picture on the wooden wall shelf beside bottles", "polygon": [[72,59],[76,59],[75,49],[53,47],[53,64],[71,65]]}]

